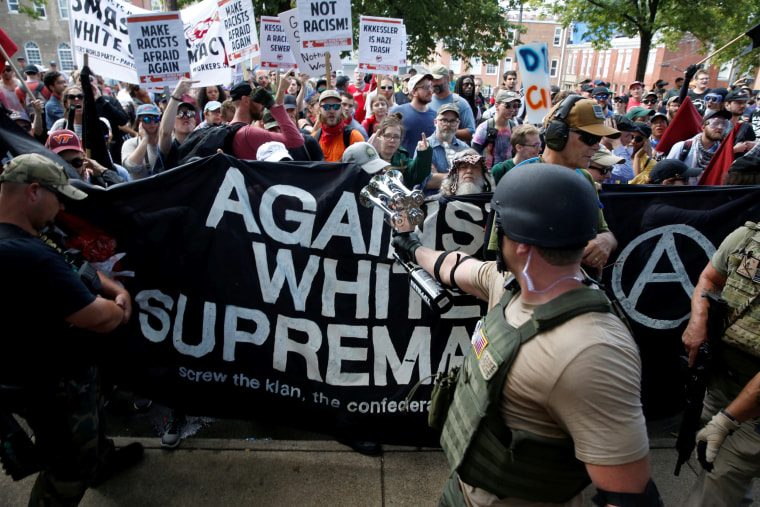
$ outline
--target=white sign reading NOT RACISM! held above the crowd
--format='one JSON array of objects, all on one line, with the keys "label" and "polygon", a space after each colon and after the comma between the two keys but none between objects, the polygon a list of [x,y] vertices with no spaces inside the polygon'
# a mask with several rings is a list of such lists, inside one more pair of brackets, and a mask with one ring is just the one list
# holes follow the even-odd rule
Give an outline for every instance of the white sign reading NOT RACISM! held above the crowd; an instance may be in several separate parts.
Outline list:
[{"label": "white sign reading NOT RACISM! held above the crowd", "polygon": [[351,0],[298,0],[301,51],[353,49]]}]

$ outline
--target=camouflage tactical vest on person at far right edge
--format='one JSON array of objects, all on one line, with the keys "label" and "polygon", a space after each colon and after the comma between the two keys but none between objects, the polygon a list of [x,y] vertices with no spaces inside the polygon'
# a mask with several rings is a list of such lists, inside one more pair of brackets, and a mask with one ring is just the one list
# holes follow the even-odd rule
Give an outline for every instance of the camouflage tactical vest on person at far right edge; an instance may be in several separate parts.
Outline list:
[{"label": "camouflage tactical vest on person at far right edge", "polygon": [[760,357],[760,225],[744,224],[747,233],[738,250],[728,258],[728,278],[723,298],[728,302],[728,321],[723,342]]}]

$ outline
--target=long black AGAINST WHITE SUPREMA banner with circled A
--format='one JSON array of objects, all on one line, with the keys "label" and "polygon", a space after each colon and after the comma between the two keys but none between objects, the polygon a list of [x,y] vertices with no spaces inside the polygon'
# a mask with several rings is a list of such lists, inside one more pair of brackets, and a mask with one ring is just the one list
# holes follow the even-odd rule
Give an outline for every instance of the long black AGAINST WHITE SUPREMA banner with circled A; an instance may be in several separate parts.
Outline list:
[{"label": "long black AGAINST WHITE SUPREMA banner with circled A", "polygon": [[[405,398],[461,363],[484,303],[457,295],[438,317],[410,292],[382,213],[356,199],[368,181],[353,165],[220,154],[91,190],[75,214],[113,235],[114,269],[134,273],[123,278],[134,314],[109,354],[122,383],[190,414],[435,444],[431,379]],[[758,218],[760,190],[620,185],[601,196],[619,242],[604,281],[641,348],[645,410],[667,415],[681,400],[691,291],[723,237]],[[423,242],[478,256],[489,200],[428,202]]]}]

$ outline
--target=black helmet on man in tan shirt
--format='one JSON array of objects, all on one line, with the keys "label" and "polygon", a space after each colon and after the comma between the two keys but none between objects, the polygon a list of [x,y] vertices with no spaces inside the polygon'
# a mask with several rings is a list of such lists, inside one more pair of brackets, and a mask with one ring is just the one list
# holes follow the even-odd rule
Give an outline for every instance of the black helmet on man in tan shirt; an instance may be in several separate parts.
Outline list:
[{"label": "black helmet on man in tan shirt", "polygon": [[578,171],[523,164],[499,181],[491,207],[512,241],[546,248],[586,244],[596,237],[599,200]]}]

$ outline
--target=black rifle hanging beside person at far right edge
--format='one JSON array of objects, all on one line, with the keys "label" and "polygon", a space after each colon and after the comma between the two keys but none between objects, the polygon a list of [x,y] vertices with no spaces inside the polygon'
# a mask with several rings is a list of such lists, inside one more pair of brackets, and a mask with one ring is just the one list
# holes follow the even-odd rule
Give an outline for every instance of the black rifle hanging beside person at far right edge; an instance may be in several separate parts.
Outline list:
[{"label": "black rifle hanging beside person at far right edge", "polygon": [[[710,304],[707,308],[707,340],[699,346],[694,366],[689,368],[689,378],[686,384],[686,408],[676,440],[678,461],[676,462],[675,475],[681,472],[681,465],[689,460],[692,451],[694,451],[695,435],[701,427],[702,407],[707,384],[710,380],[710,371],[713,367],[715,348],[726,329],[726,317],[728,315],[726,300],[710,292],[702,297],[707,298]],[[704,453],[702,455],[704,456]],[[712,463],[707,463],[702,459],[699,462],[705,470],[712,470]]]}]

